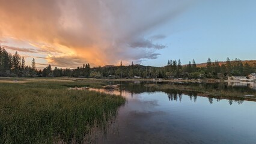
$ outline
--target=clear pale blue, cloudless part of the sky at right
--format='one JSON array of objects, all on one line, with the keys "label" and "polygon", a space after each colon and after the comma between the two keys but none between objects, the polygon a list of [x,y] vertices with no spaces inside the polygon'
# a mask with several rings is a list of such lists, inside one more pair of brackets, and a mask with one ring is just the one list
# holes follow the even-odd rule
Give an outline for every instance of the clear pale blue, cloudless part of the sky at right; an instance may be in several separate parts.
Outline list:
[{"label": "clear pale blue, cloudless part of the sky at right", "polygon": [[[256,1],[199,1],[156,33],[167,35],[159,43],[167,48],[157,50],[159,59],[145,65],[164,65],[166,59],[196,62],[255,59]],[[165,62],[164,64],[162,64]]]}]

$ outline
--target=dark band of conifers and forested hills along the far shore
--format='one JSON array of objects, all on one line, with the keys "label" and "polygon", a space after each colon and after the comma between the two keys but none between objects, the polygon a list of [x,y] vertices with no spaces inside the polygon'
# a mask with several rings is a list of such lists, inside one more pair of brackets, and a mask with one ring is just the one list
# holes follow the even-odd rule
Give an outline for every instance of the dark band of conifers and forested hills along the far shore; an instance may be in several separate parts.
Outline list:
[{"label": "dark band of conifers and forested hills along the far shore", "polygon": [[2,77],[93,77],[93,78],[187,78],[187,79],[225,79],[227,76],[247,76],[256,73],[256,65],[243,64],[240,59],[219,63],[218,60],[212,62],[207,59],[204,67],[197,67],[194,59],[187,65],[182,65],[180,59],[169,59],[165,67],[151,67],[133,64],[124,66],[122,61],[120,65],[107,65],[105,67],[91,67],[90,64],[84,64],[75,69],[62,69],[51,65],[38,70],[35,67],[35,59],[32,59],[31,65],[25,65],[25,58],[17,52],[12,55],[4,47],[0,46],[0,76]]}]

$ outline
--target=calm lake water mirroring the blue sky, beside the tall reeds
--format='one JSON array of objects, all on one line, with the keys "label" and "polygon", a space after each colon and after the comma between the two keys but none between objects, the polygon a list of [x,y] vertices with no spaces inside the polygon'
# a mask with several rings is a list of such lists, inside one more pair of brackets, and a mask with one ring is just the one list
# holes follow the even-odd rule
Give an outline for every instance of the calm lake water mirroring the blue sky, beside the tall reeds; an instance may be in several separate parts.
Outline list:
[{"label": "calm lake water mirroring the blue sky, beside the tall reeds", "polygon": [[127,103],[98,143],[256,143],[253,101],[161,92],[141,82],[120,88],[110,93],[123,95]]}]

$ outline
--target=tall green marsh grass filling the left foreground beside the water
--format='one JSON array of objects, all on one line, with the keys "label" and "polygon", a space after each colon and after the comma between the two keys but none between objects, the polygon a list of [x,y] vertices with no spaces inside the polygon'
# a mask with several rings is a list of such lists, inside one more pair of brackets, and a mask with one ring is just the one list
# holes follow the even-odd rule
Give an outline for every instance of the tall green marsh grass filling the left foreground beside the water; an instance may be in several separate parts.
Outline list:
[{"label": "tall green marsh grass filling the left foreground beside the water", "polygon": [[[93,82],[0,83],[0,143],[82,143],[91,128],[104,128],[125,98],[68,91]],[[89,136],[90,137],[90,136]]]}]

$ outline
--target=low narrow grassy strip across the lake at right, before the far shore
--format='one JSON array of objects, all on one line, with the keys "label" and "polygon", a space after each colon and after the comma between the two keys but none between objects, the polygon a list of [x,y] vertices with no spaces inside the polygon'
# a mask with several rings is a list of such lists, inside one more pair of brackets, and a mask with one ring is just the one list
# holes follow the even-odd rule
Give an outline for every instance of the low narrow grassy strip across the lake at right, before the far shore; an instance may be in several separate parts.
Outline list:
[{"label": "low narrow grassy strip across the lake at right, before the far shore", "polygon": [[[207,88],[193,85],[177,85],[174,83],[171,84],[147,84],[145,85],[150,88],[159,89],[161,91],[168,91],[168,89],[174,89],[182,91],[185,93],[194,92],[199,96],[203,97],[215,97],[219,99],[228,99],[228,100],[249,100],[256,101],[256,92],[243,91],[239,89],[228,89],[228,88]],[[254,96],[245,96],[245,95],[254,95]]]}]

